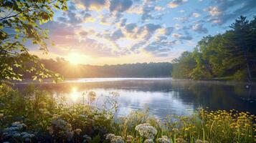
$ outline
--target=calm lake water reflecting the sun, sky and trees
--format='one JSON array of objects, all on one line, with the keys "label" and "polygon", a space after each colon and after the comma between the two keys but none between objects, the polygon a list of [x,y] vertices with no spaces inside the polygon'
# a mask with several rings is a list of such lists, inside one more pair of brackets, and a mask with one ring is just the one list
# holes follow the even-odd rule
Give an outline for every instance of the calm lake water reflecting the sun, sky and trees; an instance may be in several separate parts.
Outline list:
[{"label": "calm lake water reflecting the sun, sky and trees", "polygon": [[[25,81],[16,87],[26,87]],[[94,104],[100,106],[110,92],[120,94],[118,115],[124,116],[134,109],[149,107],[158,118],[167,114],[188,115],[198,108],[237,109],[256,114],[256,85],[251,89],[246,84],[230,82],[195,82],[170,78],[95,78],[68,79],[60,84],[36,84],[47,89],[57,98],[65,97],[72,104],[82,101],[82,93],[96,92]]]}]

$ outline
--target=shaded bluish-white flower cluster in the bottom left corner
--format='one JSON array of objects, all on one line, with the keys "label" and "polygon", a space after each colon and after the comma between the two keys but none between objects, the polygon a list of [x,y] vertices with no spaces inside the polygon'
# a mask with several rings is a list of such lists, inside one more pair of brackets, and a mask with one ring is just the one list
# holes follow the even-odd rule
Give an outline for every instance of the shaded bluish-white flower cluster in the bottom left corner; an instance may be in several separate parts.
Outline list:
[{"label": "shaded bluish-white flower cluster in the bottom left corner", "polygon": [[21,122],[14,122],[11,124],[11,127],[7,127],[4,129],[3,135],[6,140],[11,138],[19,138],[25,142],[31,142],[32,137],[34,134],[29,134],[27,132],[22,132],[26,129],[27,125]]}]

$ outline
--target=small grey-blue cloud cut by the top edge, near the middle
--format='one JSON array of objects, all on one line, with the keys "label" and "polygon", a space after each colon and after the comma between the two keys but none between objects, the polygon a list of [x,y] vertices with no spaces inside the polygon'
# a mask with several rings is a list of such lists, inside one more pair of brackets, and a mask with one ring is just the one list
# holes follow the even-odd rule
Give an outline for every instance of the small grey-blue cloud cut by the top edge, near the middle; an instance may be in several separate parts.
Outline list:
[{"label": "small grey-blue cloud cut by the top edge, near the middle", "polygon": [[110,11],[123,12],[133,5],[131,0],[112,0],[110,1]]}]

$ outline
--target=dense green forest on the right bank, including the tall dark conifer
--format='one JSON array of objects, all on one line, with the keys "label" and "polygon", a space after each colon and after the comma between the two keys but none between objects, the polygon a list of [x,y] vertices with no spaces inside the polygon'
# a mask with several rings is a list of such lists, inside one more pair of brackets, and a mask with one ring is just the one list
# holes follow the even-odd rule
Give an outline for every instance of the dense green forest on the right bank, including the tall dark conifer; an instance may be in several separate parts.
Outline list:
[{"label": "dense green forest on the right bank, including the tall dark conifer", "polygon": [[223,34],[204,36],[194,51],[173,60],[176,79],[251,82],[256,76],[256,16],[240,16]]}]

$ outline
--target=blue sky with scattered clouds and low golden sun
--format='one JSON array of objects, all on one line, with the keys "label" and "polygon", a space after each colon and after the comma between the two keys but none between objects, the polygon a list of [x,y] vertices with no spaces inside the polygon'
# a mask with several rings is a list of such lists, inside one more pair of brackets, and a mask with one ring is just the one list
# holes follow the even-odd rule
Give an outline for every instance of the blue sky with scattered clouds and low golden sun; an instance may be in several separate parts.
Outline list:
[{"label": "blue sky with scattered clouds and low golden sun", "polygon": [[55,11],[49,54],[79,64],[172,61],[202,37],[229,29],[238,16],[252,19],[256,0],[72,0]]}]

